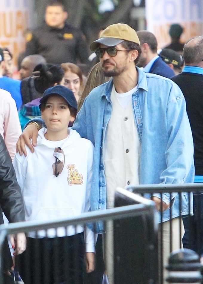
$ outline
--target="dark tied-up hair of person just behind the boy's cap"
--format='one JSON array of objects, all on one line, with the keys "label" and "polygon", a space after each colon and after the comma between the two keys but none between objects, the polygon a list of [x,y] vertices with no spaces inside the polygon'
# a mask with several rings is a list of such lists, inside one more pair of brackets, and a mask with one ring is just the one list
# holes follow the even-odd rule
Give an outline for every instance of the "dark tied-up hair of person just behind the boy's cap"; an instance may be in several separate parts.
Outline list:
[{"label": "dark tied-up hair of person just behind the boy's cap", "polygon": [[59,84],[64,76],[64,71],[58,65],[38,64],[33,70],[34,85],[39,93],[44,93],[55,84]]}]

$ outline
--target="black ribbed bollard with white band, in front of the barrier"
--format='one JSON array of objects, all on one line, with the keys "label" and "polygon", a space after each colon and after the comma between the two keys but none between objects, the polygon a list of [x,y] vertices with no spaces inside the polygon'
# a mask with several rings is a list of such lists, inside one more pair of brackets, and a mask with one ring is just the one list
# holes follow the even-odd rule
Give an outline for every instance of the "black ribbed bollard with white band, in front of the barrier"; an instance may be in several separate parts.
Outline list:
[{"label": "black ribbed bollard with white band, in front of the barrier", "polygon": [[168,263],[168,283],[202,283],[202,265],[195,251],[187,248],[173,251]]}]

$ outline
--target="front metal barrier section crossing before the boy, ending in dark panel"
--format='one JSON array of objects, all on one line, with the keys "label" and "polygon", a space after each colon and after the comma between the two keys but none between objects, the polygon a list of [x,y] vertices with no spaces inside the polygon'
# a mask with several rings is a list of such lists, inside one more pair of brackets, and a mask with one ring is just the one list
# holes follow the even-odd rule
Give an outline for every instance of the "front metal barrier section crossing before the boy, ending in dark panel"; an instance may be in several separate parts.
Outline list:
[{"label": "front metal barrier section crossing before the boy, ending in dark panel", "polygon": [[[51,284],[51,283],[77,283],[82,284],[81,279],[77,275],[77,270],[80,271],[80,262],[79,262],[79,255],[74,255],[75,252],[79,251],[79,241],[74,240],[71,245],[67,243],[67,240],[63,242],[58,242],[57,240],[61,239],[61,237],[57,237],[57,232],[59,228],[64,228],[64,231],[68,232],[68,228],[75,230],[77,233],[78,226],[85,225],[87,223],[95,223],[97,221],[103,221],[104,224],[107,224],[109,220],[113,220],[114,222],[114,259],[110,262],[111,267],[107,267],[109,270],[113,270],[114,272],[114,283],[139,283],[139,284],[147,284],[147,283],[157,283],[158,274],[154,272],[154,267],[156,265],[154,258],[152,257],[152,253],[156,255],[156,236],[157,236],[157,223],[156,223],[156,210],[154,206],[154,202],[151,200],[144,199],[136,194],[132,194],[126,190],[118,189],[116,194],[116,202],[121,205],[127,205],[123,207],[117,207],[113,209],[108,209],[104,211],[94,211],[82,214],[80,217],[75,217],[72,219],[63,219],[57,221],[50,221],[50,222],[19,222],[9,224],[8,226],[1,225],[0,226],[0,268],[2,269],[3,265],[3,243],[7,239],[7,236],[10,234],[17,234],[19,232],[25,232],[26,234],[30,234],[30,232],[34,232],[35,238],[31,238],[34,240],[39,240],[37,237],[44,232],[45,238],[40,240],[46,239],[48,235],[48,231],[51,228],[56,233],[56,238],[49,238],[52,239],[50,242],[50,246],[46,244],[46,246],[38,246],[38,242],[36,241],[33,245],[33,250],[30,255],[27,257],[26,261],[24,262],[24,270],[28,272],[28,278],[26,284],[29,284],[30,276],[29,276],[29,265],[34,265],[34,274],[33,274],[33,282],[37,284]],[[131,204],[131,205],[129,205]],[[141,218],[142,217],[142,218]],[[142,219],[142,222],[140,220]],[[142,231],[137,232],[137,226],[143,225]],[[127,232],[127,236],[126,233]],[[143,234],[146,234],[147,237],[143,237]],[[33,233],[32,233],[33,236]],[[69,238],[69,237],[68,237]],[[57,240],[56,240],[57,239]],[[129,242],[130,241],[130,242]],[[136,244],[135,246],[133,244]],[[108,243],[106,244],[109,245]],[[108,255],[108,248],[104,245],[104,255]],[[130,245],[130,247],[129,247]],[[140,246],[141,245],[141,246]],[[50,257],[50,247],[53,246],[53,254]],[[61,251],[67,246],[71,246],[74,248],[70,250],[70,253],[65,253],[62,257],[65,260],[66,268],[62,267],[64,270],[64,274],[66,279],[69,279],[67,282],[64,279],[61,279],[59,275],[59,270],[61,271]],[[122,250],[121,248],[124,248]],[[142,258],[138,257],[137,249],[140,247],[143,250],[140,252],[145,252],[142,255]],[[146,248],[146,249],[145,249]],[[27,250],[26,250],[27,251]],[[70,260],[71,257],[71,260]],[[130,257],[130,262],[129,262]],[[134,261],[133,260],[136,260]],[[128,261],[125,261],[128,260]],[[129,265],[130,264],[130,265]],[[17,265],[18,265],[18,257],[17,257]],[[51,265],[51,269],[49,268]],[[122,267],[122,270],[121,270]],[[142,271],[142,268],[146,271],[151,269],[152,272],[147,273],[147,277],[140,277],[141,281],[137,282],[134,277],[136,277],[135,269],[139,269]],[[38,272],[41,269],[43,275],[36,276],[35,272]],[[141,269],[141,270],[140,270]],[[2,273],[2,271],[1,271]],[[52,276],[50,276],[52,274]],[[2,274],[1,274],[2,275]],[[130,276],[131,275],[131,276]],[[130,278],[129,278],[130,276]],[[42,278],[40,278],[42,277]],[[51,280],[53,278],[53,280]],[[124,281],[124,279],[128,279]],[[136,278],[137,279],[137,278]],[[149,282],[150,279],[150,282]],[[0,284],[3,284],[3,279],[0,277]]]}]

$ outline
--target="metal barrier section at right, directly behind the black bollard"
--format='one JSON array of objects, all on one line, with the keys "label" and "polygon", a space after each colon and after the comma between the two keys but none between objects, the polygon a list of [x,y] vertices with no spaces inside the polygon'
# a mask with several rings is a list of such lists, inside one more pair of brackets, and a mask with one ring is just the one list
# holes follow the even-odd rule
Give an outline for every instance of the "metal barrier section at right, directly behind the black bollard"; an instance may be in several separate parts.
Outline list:
[{"label": "metal barrier section at right, directly behind the black bollard", "polygon": [[[193,183],[193,184],[159,184],[159,185],[136,185],[136,186],[128,186],[127,190],[130,192],[141,194],[146,197],[146,194],[149,194],[147,197],[150,198],[153,194],[158,193],[162,199],[164,193],[168,193],[170,195],[170,218],[169,222],[163,222],[165,212],[159,212],[159,283],[166,283],[165,278],[167,274],[165,273],[165,265],[167,265],[168,257],[172,251],[174,251],[173,245],[178,239],[178,248],[182,248],[182,240],[184,248],[190,248],[196,251],[199,256],[203,254],[203,183]],[[176,218],[172,218],[173,215],[173,193],[177,193],[176,199],[179,201],[178,203],[178,216]],[[183,194],[184,193],[184,194]],[[193,193],[193,194],[192,194]],[[188,212],[188,214],[184,215],[182,204],[183,198],[187,197],[187,208],[192,208],[194,211],[194,216],[192,216],[192,212]],[[193,204],[194,198],[194,204]],[[195,205],[195,206],[194,206]],[[177,205],[176,205],[177,209]],[[183,215],[181,217],[181,215]],[[174,221],[176,222],[176,227],[173,227]],[[183,222],[182,222],[183,221]],[[184,223],[184,227],[183,224]],[[177,224],[179,224],[179,228],[177,229]],[[168,227],[167,227],[167,226]],[[166,252],[165,247],[166,244],[166,233],[167,228],[169,228],[168,235],[168,252]],[[174,229],[175,228],[175,229]],[[184,235],[184,228],[187,229],[187,237]],[[174,234],[178,231],[178,237],[174,237]],[[184,237],[183,237],[184,235]],[[177,247],[175,248],[178,249]]]}]

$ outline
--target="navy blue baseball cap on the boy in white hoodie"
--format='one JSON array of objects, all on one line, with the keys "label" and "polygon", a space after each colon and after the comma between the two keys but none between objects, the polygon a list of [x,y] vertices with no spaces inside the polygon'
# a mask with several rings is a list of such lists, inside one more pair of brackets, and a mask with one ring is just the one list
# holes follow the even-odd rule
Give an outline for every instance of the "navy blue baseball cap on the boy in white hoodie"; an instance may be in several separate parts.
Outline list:
[{"label": "navy blue baseball cap on the boy in white hoodie", "polygon": [[76,101],[76,98],[75,98],[73,92],[70,89],[68,89],[67,87],[64,87],[62,85],[56,85],[54,87],[51,87],[51,88],[48,88],[47,90],[45,90],[41,100],[39,101],[40,102],[39,108],[41,107],[41,104],[46,102],[48,97],[50,97],[52,95],[61,96],[62,98],[64,98],[64,100],[66,100],[68,105],[75,108],[76,110],[78,109],[77,101]]}]

